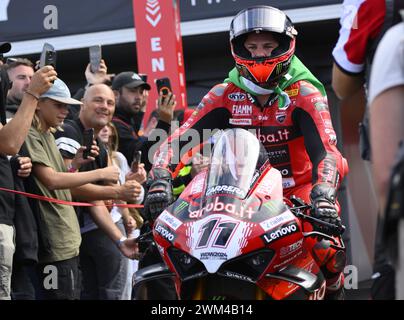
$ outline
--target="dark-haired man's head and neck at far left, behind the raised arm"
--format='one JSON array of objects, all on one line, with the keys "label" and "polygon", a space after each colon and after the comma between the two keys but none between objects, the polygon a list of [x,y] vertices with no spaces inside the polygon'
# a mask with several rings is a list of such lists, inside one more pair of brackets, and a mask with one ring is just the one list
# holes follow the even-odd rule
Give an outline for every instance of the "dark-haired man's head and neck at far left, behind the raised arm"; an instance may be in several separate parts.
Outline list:
[{"label": "dark-haired man's head and neck at far left, behind the raised arm", "polygon": [[6,115],[10,119],[17,112],[21,104],[24,92],[27,90],[32,76],[34,75],[34,65],[25,58],[14,58],[6,65],[8,77],[13,83],[7,95]]}]

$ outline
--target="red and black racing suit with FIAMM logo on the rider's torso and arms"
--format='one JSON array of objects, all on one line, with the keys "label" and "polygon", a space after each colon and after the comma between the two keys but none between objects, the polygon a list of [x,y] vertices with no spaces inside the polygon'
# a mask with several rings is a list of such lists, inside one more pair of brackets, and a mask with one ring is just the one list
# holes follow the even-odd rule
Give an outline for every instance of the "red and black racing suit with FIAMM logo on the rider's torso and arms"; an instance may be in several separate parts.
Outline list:
[{"label": "red and black racing suit with FIAMM logo on the rider's torso and arms", "polygon": [[189,144],[181,137],[191,129],[200,137],[203,129],[254,129],[271,164],[282,174],[285,197],[296,195],[310,202],[310,191],[317,183],[337,189],[348,166],[336,147],[327,98],[307,81],[298,81],[285,92],[291,104],[281,110],[277,99],[270,98],[260,106],[256,97],[233,83],[213,87],[192,116],[160,147],[154,167],[176,170],[171,164],[170,145],[179,140],[179,150],[186,153],[183,147]]}]

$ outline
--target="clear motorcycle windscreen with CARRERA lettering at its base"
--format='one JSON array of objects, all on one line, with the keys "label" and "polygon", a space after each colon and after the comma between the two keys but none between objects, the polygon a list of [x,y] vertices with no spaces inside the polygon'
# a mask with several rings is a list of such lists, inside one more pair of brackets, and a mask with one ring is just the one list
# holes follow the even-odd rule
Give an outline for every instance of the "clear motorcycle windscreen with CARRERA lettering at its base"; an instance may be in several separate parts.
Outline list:
[{"label": "clear motorcycle windscreen with CARRERA lettering at its base", "polygon": [[206,197],[229,194],[244,199],[257,167],[260,142],[243,129],[226,130],[213,148]]}]

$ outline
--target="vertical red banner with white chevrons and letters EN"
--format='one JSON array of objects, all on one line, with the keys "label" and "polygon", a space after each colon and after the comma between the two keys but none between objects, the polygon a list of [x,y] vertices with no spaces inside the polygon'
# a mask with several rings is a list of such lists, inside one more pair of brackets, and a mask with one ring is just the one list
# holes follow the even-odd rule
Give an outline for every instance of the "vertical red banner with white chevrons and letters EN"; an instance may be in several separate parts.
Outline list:
[{"label": "vertical red banner with white chevrons and letters EN", "polygon": [[187,107],[180,14],[177,0],[133,0],[139,73],[152,86],[144,117],[155,108],[155,80],[168,77],[177,97],[177,109]]}]

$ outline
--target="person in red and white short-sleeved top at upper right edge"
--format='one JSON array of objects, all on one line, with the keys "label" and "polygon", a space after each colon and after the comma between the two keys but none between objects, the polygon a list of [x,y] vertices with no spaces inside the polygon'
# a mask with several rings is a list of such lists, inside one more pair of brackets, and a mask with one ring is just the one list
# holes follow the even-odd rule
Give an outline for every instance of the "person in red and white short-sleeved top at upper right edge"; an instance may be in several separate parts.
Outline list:
[{"label": "person in red and white short-sleeved top at upper right edge", "polygon": [[[376,47],[385,31],[398,22],[400,6],[403,6],[403,3],[400,4],[399,1],[344,1],[340,36],[333,50],[332,86],[340,99],[348,99],[359,92],[366,96],[364,84],[369,81],[369,71]],[[363,108],[365,114],[359,126],[359,147],[361,157],[370,160],[368,108],[367,106]],[[378,217],[372,276],[375,281],[371,296],[373,299],[392,299],[394,274],[385,255],[380,228],[381,221]]]}]

